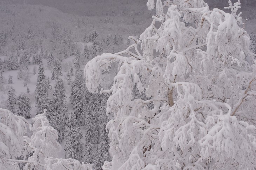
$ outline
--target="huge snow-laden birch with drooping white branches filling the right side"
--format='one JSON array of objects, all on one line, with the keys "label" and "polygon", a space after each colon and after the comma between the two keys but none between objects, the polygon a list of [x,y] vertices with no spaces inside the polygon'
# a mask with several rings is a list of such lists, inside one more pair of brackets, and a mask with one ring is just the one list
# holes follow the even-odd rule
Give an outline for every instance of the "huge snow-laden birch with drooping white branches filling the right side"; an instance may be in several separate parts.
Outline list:
[{"label": "huge snow-laden birch with drooping white branches filling the right side", "polygon": [[[256,66],[236,14],[240,1],[229,4],[231,14],[210,11],[203,0],[149,0],[156,15],[139,40],[130,36],[135,43],[126,50],[86,64],[94,93],[100,68],[120,64],[113,86],[101,90],[112,94],[106,110],[114,117],[107,125],[113,161],[106,167],[255,168]],[[148,100],[133,100],[134,84]]]}]

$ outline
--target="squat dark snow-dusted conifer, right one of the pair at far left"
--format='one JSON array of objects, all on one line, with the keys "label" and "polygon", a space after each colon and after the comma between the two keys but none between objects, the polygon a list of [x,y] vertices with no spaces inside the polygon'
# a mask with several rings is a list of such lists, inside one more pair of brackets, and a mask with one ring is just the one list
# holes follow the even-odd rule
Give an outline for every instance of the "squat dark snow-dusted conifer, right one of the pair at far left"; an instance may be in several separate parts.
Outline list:
[{"label": "squat dark snow-dusted conifer, right one of the pair at far left", "polygon": [[17,98],[17,115],[25,118],[30,118],[31,103],[27,95],[21,94]]}]

